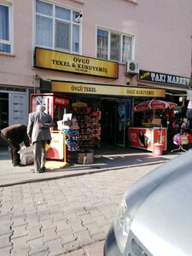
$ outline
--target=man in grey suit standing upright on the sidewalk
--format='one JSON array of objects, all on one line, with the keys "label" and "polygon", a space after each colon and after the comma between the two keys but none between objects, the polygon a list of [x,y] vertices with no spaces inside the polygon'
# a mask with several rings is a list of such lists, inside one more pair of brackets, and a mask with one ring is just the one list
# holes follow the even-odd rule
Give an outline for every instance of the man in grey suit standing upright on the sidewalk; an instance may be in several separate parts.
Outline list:
[{"label": "man in grey suit standing upright on the sidewalk", "polygon": [[43,105],[37,106],[37,111],[29,113],[27,134],[34,144],[34,171],[36,173],[44,172],[46,160],[45,145],[50,143],[50,127],[53,127],[54,121],[48,113],[44,113]]}]

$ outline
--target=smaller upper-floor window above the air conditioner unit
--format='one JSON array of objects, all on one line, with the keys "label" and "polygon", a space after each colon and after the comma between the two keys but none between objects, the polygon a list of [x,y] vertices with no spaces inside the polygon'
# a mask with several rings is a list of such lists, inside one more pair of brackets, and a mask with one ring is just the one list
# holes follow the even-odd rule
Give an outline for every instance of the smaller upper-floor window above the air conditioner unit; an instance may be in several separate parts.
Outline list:
[{"label": "smaller upper-floor window above the air conditioner unit", "polygon": [[97,58],[125,62],[131,60],[133,36],[97,29]]}]

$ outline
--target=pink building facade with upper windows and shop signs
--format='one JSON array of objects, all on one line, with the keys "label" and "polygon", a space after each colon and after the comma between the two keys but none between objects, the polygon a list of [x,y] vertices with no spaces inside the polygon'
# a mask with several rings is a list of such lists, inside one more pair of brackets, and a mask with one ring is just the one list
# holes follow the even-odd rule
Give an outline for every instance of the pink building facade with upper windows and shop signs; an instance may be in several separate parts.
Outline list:
[{"label": "pink building facade with upper windows and shop signs", "polygon": [[190,0],[0,0],[0,129],[52,92],[100,109],[104,140],[125,146],[136,103],[186,98],[191,13]]}]

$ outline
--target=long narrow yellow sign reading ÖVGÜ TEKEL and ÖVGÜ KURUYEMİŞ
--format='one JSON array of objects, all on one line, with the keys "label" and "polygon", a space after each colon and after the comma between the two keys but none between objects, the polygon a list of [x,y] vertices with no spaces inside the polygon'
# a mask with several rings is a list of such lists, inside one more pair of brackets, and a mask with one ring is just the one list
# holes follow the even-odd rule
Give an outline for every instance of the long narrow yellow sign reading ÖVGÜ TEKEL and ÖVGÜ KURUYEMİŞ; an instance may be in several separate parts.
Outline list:
[{"label": "long narrow yellow sign reading \u00d6VG\u00dc TEKEL and \u00d6VG\u00dc KURUYEM\u0130\u015e", "polygon": [[82,84],[62,81],[51,82],[52,91],[66,93],[81,93],[92,95],[109,95],[109,96],[148,96],[148,97],[165,97],[164,89],[149,89],[140,87],[127,87],[119,85],[104,84]]}]

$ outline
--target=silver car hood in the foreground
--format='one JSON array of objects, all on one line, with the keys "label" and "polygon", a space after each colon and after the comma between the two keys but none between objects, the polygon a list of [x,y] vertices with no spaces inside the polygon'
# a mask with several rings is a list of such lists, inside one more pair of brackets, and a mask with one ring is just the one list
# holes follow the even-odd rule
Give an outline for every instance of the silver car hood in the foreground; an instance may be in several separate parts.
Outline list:
[{"label": "silver car hood in the foreground", "polygon": [[131,188],[131,231],[155,256],[192,255],[192,151],[149,173]]}]

